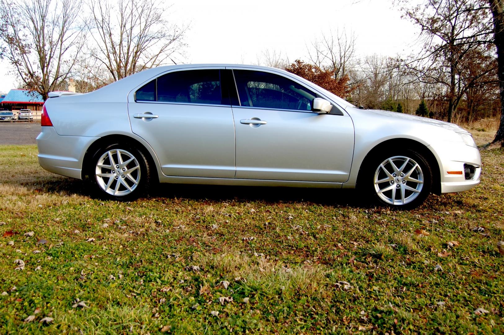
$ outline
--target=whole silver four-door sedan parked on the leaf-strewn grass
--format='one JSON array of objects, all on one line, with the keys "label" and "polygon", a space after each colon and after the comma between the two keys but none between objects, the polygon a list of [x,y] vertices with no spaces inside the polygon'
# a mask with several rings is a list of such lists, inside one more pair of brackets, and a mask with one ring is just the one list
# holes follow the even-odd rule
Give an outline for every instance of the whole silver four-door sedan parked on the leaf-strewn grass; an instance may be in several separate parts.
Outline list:
[{"label": "whole silver four-door sedan parked on the leaf-strewn grass", "polygon": [[134,199],[153,182],[359,189],[393,208],[470,189],[481,159],[448,122],[359,109],[252,65],[171,65],[94,92],[49,93],[40,165]]}]

